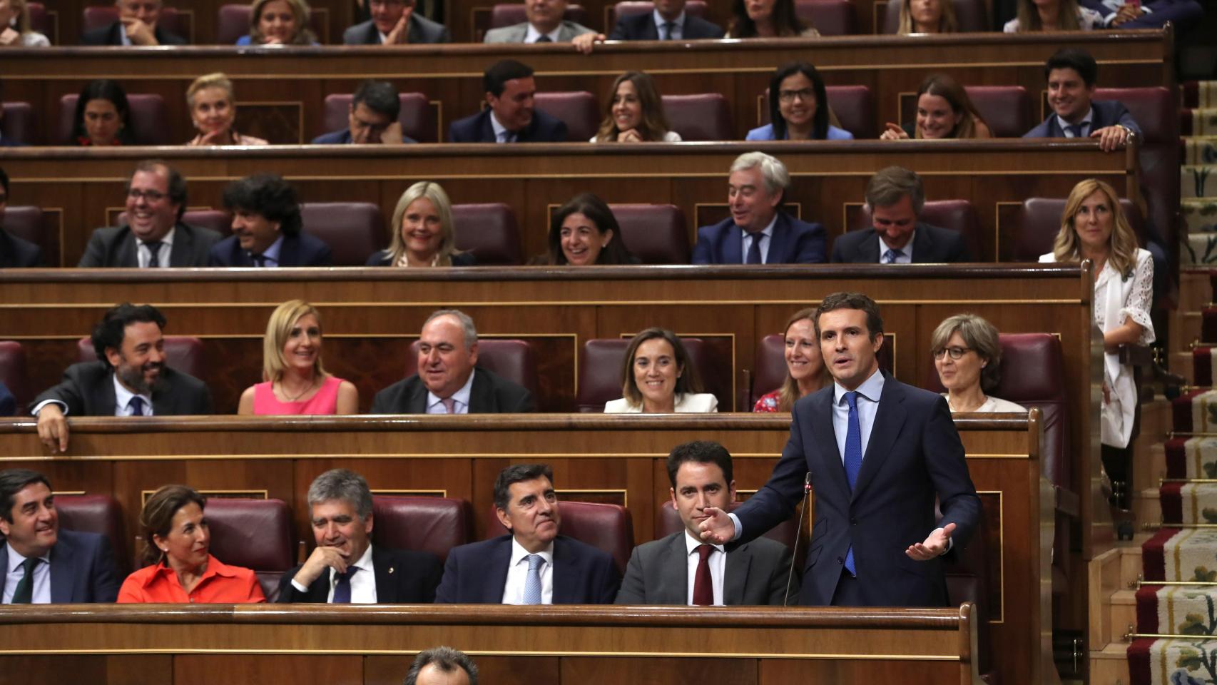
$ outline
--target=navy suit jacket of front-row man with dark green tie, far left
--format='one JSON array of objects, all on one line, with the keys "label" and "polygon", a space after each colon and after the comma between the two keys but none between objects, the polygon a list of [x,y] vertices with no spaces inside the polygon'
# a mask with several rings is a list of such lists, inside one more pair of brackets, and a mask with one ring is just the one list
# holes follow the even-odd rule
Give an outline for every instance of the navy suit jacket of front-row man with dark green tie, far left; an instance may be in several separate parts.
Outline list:
[{"label": "navy suit jacket of front-row man with dark green tie, far left", "polygon": [[[9,568],[9,545],[0,543],[0,568]],[[7,573],[0,573],[0,593]],[[51,603],[113,602],[118,599],[118,573],[110,539],[96,533],[60,528],[51,548]]]}]

